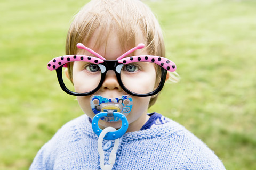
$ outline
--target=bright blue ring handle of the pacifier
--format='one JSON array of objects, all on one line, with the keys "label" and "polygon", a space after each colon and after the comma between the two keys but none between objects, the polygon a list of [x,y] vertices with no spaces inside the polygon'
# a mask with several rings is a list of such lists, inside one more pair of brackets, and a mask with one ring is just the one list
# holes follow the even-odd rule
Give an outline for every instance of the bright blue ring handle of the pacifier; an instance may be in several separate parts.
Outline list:
[{"label": "bright blue ring handle of the pacifier", "polygon": [[[100,133],[102,132],[102,129],[99,128],[98,122],[99,122],[100,118],[107,117],[107,114],[108,114],[107,112],[100,112],[97,115],[95,115],[92,119],[92,129],[98,135],[98,137],[100,136]],[[106,139],[106,140],[115,140],[117,138],[120,138],[120,137],[122,137],[122,135],[124,135],[124,133],[128,129],[128,120],[125,117],[125,115],[123,115],[122,113],[119,113],[119,112],[113,112],[113,115],[115,117],[120,118],[120,120],[122,121],[122,126],[120,129],[118,129],[115,132],[108,132],[104,137],[104,139]]]}]

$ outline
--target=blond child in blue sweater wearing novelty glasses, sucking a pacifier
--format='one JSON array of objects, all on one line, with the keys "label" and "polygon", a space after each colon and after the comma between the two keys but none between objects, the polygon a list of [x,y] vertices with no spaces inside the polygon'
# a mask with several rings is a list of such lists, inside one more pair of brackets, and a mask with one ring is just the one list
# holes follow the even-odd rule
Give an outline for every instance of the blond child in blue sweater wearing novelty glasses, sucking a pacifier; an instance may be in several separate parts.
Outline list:
[{"label": "blond child in blue sweater wearing novelty glasses, sucking a pacifier", "polygon": [[[30,169],[105,168],[97,151],[101,130],[113,131],[113,139],[119,140],[119,145],[103,140],[103,164],[113,166],[105,169],[225,169],[183,126],[161,114],[147,113],[164,82],[172,79],[167,70],[175,71],[176,66],[163,58],[161,28],[141,1],[87,3],[71,24],[66,54],[48,67],[57,71],[61,88],[77,96],[85,114],[63,125],[39,150]],[[105,115],[93,123],[99,112]],[[92,124],[98,124],[99,131]],[[107,130],[110,126],[118,133]],[[108,158],[114,146],[116,157]]]}]

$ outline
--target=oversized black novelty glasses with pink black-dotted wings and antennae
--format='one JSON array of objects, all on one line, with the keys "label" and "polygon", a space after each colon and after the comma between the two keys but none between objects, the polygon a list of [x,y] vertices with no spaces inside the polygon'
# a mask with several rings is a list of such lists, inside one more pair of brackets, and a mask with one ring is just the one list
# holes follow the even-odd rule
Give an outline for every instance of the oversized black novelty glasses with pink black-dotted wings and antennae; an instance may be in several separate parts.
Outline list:
[{"label": "oversized black novelty glasses with pink black-dotted wings and antennae", "polygon": [[[60,87],[67,94],[74,96],[92,95],[100,89],[105,80],[106,73],[113,70],[119,86],[133,96],[152,96],[157,94],[164,86],[167,71],[174,72],[176,65],[164,57],[140,55],[125,57],[137,49],[144,48],[139,44],[118,57],[116,60],[106,60],[92,49],[82,43],[77,48],[85,49],[93,56],[65,55],[53,58],[48,63],[49,70],[56,70]],[[71,67],[71,75],[67,66]]]}]

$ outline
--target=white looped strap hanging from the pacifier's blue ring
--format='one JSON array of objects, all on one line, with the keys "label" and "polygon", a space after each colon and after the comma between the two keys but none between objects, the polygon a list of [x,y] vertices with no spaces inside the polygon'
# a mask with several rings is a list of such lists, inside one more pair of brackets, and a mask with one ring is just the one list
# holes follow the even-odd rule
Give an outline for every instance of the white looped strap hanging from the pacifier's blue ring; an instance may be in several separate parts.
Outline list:
[{"label": "white looped strap hanging from the pacifier's blue ring", "polygon": [[116,151],[118,149],[119,146],[119,138],[115,139],[115,143],[114,143],[114,147],[109,155],[109,164],[104,164],[104,151],[103,151],[103,147],[102,147],[102,142],[103,142],[103,138],[105,137],[105,135],[108,132],[114,132],[116,131],[115,128],[113,127],[107,127],[105,129],[102,130],[102,132],[99,135],[99,139],[98,139],[98,152],[100,154],[100,168],[102,170],[111,170],[113,165],[116,162]]}]

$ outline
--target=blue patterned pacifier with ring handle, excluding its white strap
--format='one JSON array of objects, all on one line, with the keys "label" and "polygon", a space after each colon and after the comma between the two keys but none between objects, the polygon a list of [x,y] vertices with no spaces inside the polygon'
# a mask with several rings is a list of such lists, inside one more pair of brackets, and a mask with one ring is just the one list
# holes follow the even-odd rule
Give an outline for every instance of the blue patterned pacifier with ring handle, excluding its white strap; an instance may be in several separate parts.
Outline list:
[{"label": "blue patterned pacifier with ring handle, excluding its white strap", "polygon": [[102,129],[99,128],[99,120],[106,122],[122,121],[120,129],[108,132],[104,139],[115,140],[127,131],[128,120],[126,116],[132,109],[132,97],[128,95],[119,96],[116,98],[105,98],[100,95],[93,95],[90,98],[90,105],[95,116],[92,119],[92,129],[95,134],[100,136]]}]

